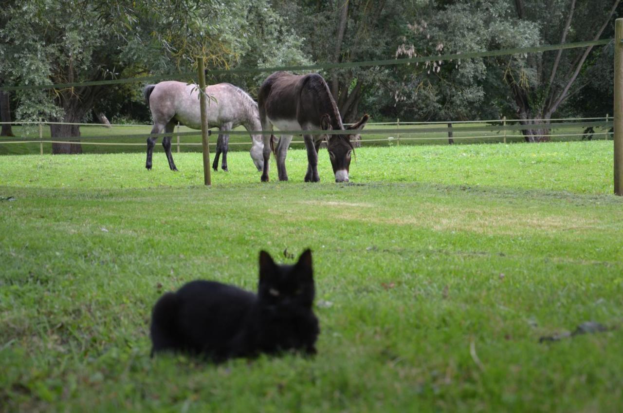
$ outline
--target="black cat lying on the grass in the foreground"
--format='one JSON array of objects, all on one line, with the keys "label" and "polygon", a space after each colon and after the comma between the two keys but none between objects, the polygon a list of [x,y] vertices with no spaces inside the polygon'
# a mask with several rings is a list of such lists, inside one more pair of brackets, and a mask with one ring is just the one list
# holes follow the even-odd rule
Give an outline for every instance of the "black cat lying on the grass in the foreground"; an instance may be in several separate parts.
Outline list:
[{"label": "black cat lying on the grass in the foreground", "polygon": [[282,351],[316,353],[312,251],[277,265],[260,251],[257,295],[215,281],[191,281],[164,294],[151,314],[151,355],[183,351],[219,362]]}]

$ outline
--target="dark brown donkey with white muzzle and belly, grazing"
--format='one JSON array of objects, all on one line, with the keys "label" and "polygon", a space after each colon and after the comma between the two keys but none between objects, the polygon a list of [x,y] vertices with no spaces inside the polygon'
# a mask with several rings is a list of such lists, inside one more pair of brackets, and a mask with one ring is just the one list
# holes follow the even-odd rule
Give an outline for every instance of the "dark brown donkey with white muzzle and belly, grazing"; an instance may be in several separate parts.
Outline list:
[{"label": "dark brown donkey with white muzzle and belly, grazing", "polygon": [[[281,130],[301,130],[307,147],[307,174],[305,182],[318,182],[318,148],[323,138],[327,138],[327,149],[335,174],[335,182],[348,182],[353,145],[351,139],[368,122],[364,115],[359,122],[348,129],[349,135],[308,135],[305,130],[345,130],[335,100],[331,96],[325,79],[317,73],[293,75],[275,72],[262,84],[257,97],[262,130],[272,130],[273,125]],[[264,135],[264,173],[262,182],[269,180],[270,145],[274,135]],[[275,150],[279,180],[287,181],[285,157],[292,135],[281,135]]]}]

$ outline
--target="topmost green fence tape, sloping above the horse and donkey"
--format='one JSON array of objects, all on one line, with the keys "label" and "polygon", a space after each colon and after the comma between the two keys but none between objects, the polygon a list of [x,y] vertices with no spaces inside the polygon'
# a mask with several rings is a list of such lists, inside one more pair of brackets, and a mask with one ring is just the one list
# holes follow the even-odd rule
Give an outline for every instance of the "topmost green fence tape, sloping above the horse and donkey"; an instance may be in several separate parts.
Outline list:
[{"label": "topmost green fence tape, sloping above the horse and donkey", "polygon": [[[370,67],[370,66],[394,66],[401,64],[412,63],[425,63],[425,62],[441,62],[441,61],[453,61],[462,59],[474,59],[480,57],[495,57],[505,56],[511,54],[526,54],[526,53],[538,53],[554,50],[575,49],[578,47],[589,46],[605,46],[612,42],[613,39],[601,39],[596,41],[586,42],[573,42],[562,44],[550,44],[545,46],[533,46],[533,47],[518,47],[513,49],[499,49],[495,51],[483,51],[483,52],[468,52],[468,53],[455,53],[455,54],[442,54],[439,56],[417,56],[408,57],[404,59],[386,59],[379,61],[361,61],[361,62],[342,62],[342,63],[319,63],[306,66],[278,66],[278,67],[240,67],[236,69],[212,69],[206,70],[206,75],[217,74],[239,74],[239,73],[261,73],[261,72],[277,72],[279,70],[289,71],[308,71],[317,69],[346,69],[351,67]],[[65,89],[70,87],[85,87],[85,86],[97,86],[97,85],[115,85],[115,84],[127,84],[135,82],[156,82],[158,80],[180,80],[180,79],[195,79],[196,72],[187,72],[181,74],[165,74],[143,77],[131,77],[128,79],[111,79],[111,80],[93,80],[88,82],[71,82],[60,84],[45,84],[45,85],[6,85],[1,86],[2,91],[11,90],[29,90],[29,89]]]}]

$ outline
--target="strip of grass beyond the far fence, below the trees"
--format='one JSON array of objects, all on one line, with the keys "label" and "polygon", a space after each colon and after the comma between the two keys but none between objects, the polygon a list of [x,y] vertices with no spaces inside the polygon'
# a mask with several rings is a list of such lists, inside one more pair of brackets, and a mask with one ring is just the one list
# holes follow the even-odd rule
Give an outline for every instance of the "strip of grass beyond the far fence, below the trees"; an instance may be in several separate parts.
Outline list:
[{"label": "strip of grass beyond the far fence, below the trees", "polygon": [[[495,124],[498,125],[498,124]],[[460,124],[455,125],[455,129],[459,127],[487,127],[490,124]],[[431,127],[435,128],[444,128],[445,124],[441,125],[376,125],[370,124],[366,126],[366,130],[374,130],[374,129],[429,129]],[[243,127],[238,127],[235,130],[244,131]],[[583,132],[582,127],[566,127],[566,128],[558,128],[551,130],[551,134],[557,134],[561,136],[552,137],[551,140],[553,142],[568,142],[581,140],[581,136],[577,136],[577,134],[581,134]],[[18,137],[39,137],[39,130],[37,127],[21,127],[14,126],[13,132]],[[82,145],[82,150],[84,153],[120,153],[120,152],[145,152],[146,151],[146,138],[143,137],[130,137],[133,134],[149,134],[151,132],[151,125],[128,125],[128,126],[115,126],[110,129],[101,127],[101,126],[82,126],[80,127],[80,134],[82,135],[82,142],[85,145]],[[189,129],[187,127],[181,126],[179,127],[179,132],[197,132],[193,129]],[[212,129],[212,132],[217,134],[217,129]],[[600,128],[595,130],[597,134],[605,132]],[[470,136],[480,136],[477,138],[465,138]],[[519,131],[508,131],[508,137],[506,138],[506,142],[523,142],[523,137],[521,137],[521,132]],[[110,137],[108,139],[101,138],[89,138],[89,137]],[[50,138],[50,129],[49,127],[44,127],[43,129],[43,137]],[[391,137],[392,139],[388,139]],[[606,135],[594,135],[593,139],[595,140],[604,140]],[[214,151],[214,147],[216,145],[216,135],[212,135],[211,137],[211,148]],[[400,140],[401,145],[429,145],[430,143],[447,143],[447,134],[445,132],[422,132],[418,134],[364,134],[361,135],[363,139],[363,145],[368,146],[386,146],[386,145],[397,145],[398,140]],[[612,138],[612,137],[611,137]],[[503,141],[503,132],[454,132],[454,139],[456,144],[462,143],[495,143]],[[0,138],[0,155],[26,155],[28,153],[39,153],[39,143],[31,142],[31,143],[4,143],[2,141],[15,141],[19,140],[15,138]],[[160,141],[160,140],[159,140]],[[89,145],[88,142],[99,142],[106,143],[105,145]],[[180,137],[180,151],[181,152],[201,152],[201,134],[197,132],[197,135],[188,135]],[[299,143],[297,143],[299,142]],[[115,145],[114,143],[130,143],[131,145]],[[184,143],[189,143],[191,145],[184,145]],[[231,146],[230,150],[249,150],[250,145],[250,137],[249,135],[231,135],[230,137]],[[52,152],[52,144],[44,143],[44,153]],[[160,146],[158,144],[158,146]],[[295,137],[294,142],[292,143],[293,148],[303,148],[302,137]],[[173,152],[176,152],[176,138],[173,138]]]}]

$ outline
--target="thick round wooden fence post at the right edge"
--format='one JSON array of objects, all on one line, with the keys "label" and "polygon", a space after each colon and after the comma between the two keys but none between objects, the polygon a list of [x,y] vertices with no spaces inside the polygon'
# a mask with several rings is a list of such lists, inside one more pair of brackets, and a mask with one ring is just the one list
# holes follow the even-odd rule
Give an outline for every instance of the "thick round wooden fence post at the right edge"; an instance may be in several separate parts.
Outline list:
[{"label": "thick round wooden fence post at the right edge", "polygon": [[614,23],[614,193],[623,196],[623,19]]}]

